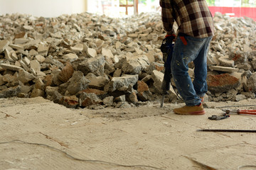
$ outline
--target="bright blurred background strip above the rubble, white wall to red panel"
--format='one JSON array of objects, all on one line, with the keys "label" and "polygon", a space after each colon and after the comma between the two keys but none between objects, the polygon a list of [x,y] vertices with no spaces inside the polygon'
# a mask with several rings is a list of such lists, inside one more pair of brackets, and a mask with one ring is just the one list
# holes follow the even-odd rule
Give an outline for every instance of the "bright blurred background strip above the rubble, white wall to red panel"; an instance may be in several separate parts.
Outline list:
[{"label": "bright blurred background strip above the rubble, white wall to red panel", "polygon": [[[256,0],[206,0],[213,13],[248,16],[256,20]],[[26,13],[32,16],[57,17],[72,13],[97,13],[110,17],[161,12],[159,0],[0,0],[0,15]]]}]

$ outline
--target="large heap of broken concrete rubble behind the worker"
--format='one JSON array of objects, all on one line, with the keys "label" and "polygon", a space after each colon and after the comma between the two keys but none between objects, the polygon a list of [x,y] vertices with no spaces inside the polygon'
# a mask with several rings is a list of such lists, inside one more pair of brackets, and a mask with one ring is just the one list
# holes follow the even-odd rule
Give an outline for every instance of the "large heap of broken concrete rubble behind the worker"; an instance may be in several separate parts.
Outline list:
[{"label": "large heap of broken concrete rubble behind the worker", "polygon": [[[255,98],[256,24],[215,13],[208,101]],[[159,13],[0,16],[0,98],[43,96],[68,108],[124,108],[159,100],[165,32]],[[190,64],[193,79],[193,63]],[[173,89],[166,100],[174,102]]]}]

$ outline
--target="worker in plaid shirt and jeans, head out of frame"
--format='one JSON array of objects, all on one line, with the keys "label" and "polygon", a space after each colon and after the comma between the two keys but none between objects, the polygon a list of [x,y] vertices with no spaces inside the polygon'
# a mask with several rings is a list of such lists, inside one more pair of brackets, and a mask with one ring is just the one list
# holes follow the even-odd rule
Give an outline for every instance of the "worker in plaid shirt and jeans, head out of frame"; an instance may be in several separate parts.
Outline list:
[{"label": "worker in plaid shirt and jeans, head out of frame", "polygon": [[[213,38],[213,16],[206,0],[160,0],[166,38],[175,39],[171,73],[186,106],[174,108],[181,115],[203,115],[203,96],[208,91],[207,54]],[[174,30],[174,23],[178,30]],[[176,33],[176,34],[175,34]],[[194,80],[188,75],[188,63],[194,64]]]}]

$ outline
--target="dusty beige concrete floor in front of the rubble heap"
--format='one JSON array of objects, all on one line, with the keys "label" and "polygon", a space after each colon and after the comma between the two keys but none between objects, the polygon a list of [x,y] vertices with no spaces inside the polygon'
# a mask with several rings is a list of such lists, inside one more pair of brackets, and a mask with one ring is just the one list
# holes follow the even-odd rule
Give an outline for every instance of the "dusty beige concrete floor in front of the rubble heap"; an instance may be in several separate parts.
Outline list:
[{"label": "dusty beige concrete floor in front of the rubble heap", "polygon": [[[256,169],[256,116],[221,115],[206,103],[206,115],[176,115],[182,104],[139,108],[70,109],[43,98],[0,99],[0,170],[6,169]],[[232,107],[238,108],[238,107]]]}]

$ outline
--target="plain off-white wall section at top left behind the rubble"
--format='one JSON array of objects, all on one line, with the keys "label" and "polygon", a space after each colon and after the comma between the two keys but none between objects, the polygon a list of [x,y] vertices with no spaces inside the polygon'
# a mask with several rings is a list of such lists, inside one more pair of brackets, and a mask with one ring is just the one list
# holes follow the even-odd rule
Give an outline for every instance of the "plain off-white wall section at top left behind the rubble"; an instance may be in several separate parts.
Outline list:
[{"label": "plain off-white wall section at top left behind the rubble", "polygon": [[0,0],[0,15],[26,13],[32,16],[57,17],[85,12],[85,2],[86,0]]}]

